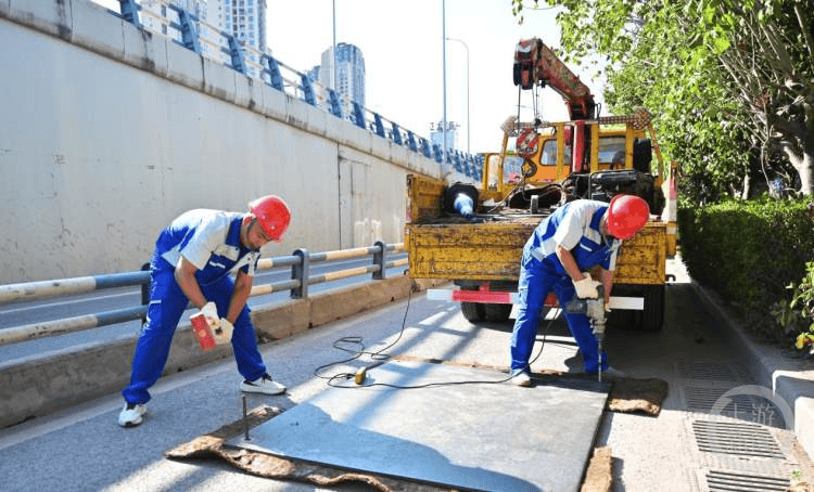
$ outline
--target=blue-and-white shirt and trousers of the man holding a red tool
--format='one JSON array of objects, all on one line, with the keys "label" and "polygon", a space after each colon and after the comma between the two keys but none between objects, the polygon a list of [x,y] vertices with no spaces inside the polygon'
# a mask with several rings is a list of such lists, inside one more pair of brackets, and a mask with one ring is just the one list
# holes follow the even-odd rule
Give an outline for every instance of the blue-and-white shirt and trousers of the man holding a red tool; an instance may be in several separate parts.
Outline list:
[{"label": "blue-and-white shirt and trousers of the man holding a red tool", "polygon": [[[130,385],[122,391],[128,403],[147,403],[148,389],[158,380],[169,354],[173,335],[189,300],[175,280],[175,268],[181,256],[198,271],[195,279],[204,297],[215,302],[225,316],[234,292],[230,273],[242,271],[254,276],[258,249],[245,248],[240,242],[244,213],[219,210],[190,210],[161,232],[150,263],[150,305],[132,360]],[[257,350],[257,337],[244,306],[234,322],[232,348],[238,372],[247,380],[266,374]]]}]

